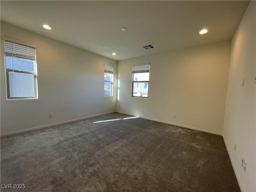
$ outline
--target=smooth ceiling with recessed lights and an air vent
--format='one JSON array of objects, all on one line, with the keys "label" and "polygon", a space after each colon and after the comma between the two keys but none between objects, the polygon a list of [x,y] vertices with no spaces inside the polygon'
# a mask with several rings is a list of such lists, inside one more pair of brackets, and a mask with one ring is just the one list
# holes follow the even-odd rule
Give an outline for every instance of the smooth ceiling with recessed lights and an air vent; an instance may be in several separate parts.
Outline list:
[{"label": "smooth ceiling with recessed lights and an air vent", "polygon": [[[230,40],[249,1],[0,3],[4,22],[114,60],[125,60]],[[42,28],[43,24],[49,24],[52,30]],[[123,32],[122,27],[127,30]],[[200,35],[202,28],[209,32]],[[148,44],[155,48],[142,48]]]}]

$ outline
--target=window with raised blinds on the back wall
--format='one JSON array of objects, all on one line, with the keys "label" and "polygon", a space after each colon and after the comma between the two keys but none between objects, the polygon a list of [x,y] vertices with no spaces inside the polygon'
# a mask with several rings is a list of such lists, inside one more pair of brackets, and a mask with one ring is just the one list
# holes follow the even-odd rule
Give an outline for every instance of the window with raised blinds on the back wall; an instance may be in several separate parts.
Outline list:
[{"label": "window with raised blinds on the back wall", "polygon": [[132,66],[132,97],[148,98],[150,64]]}]

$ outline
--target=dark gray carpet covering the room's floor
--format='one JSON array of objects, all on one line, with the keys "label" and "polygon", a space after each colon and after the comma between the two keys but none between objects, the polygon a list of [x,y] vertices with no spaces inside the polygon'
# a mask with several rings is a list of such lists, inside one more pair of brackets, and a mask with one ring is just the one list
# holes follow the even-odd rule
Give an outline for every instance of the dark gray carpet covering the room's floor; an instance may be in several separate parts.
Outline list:
[{"label": "dark gray carpet covering the room's floor", "polygon": [[221,136],[129,117],[113,113],[2,138],[1,184],[26,188],[1,191],[240,191]]}]

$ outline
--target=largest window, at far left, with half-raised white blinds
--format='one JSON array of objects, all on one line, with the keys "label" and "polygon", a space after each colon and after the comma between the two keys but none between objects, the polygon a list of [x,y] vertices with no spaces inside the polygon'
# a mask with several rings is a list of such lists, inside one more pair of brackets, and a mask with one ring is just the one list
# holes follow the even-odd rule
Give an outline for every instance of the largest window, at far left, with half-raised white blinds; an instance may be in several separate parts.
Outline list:
[{"label": "largest window, at far left, with half-raised white blinds", "polygon": [[37,98],[36,48],[5,40],[8,99]]}]

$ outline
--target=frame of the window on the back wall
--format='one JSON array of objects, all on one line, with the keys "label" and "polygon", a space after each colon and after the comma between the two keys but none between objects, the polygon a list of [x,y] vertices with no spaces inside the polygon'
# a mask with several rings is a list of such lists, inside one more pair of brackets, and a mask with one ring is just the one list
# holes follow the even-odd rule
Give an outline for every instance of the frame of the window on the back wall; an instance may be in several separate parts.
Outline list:
[{"label": "frame of the window on the back wall", "polygon": [[[138,68],[138,69],[136,69]],[[134,96],[134,83],[148,83],[149,86],[149,77],[147,81],[136,81],[134,80],[134,74],[136,73],[149,73],[150,75],[150,63],[147,64],[140,64],[140,65],[134,65],[132,66],[132,97],[136,97],[136,98],[148,98],[144,97],[144,96]],[[148,89],[148,93],[149,93],[149,89]]]}]

